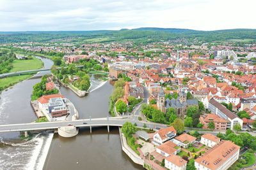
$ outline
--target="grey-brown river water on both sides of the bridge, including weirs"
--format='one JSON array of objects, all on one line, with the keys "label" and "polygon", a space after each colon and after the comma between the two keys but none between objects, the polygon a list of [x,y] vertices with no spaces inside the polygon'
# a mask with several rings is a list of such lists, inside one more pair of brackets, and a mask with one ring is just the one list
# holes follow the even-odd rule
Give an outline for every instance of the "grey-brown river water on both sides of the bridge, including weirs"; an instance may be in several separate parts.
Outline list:
[{"label": "grey-brown river water on both sides of the bridge, including weirs", "polygon": [[[41,59],[44,67],[51,67],[51,60]],[[0,124],[36,119],[29,101],[33,85],[39,81],[22,81],[2,92]],[[93,75],[91,81],[88,96],[77,97],[65,87],[61,87],[61,94],[76,106],[80,118],[107,117],[113,86],[108,81],[100,81],[98,75]],[[61,138],[58,134],[44,132],[36,134],[30,141],[20,141],[19,135],[19,132],[0,133],[0,169],[143,169],[122,152],[119,132],[114,127],[109,134],[106,127],[94,128],[92,134],[90,130],[81,128],[74,138]]]}]

